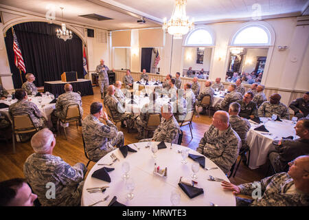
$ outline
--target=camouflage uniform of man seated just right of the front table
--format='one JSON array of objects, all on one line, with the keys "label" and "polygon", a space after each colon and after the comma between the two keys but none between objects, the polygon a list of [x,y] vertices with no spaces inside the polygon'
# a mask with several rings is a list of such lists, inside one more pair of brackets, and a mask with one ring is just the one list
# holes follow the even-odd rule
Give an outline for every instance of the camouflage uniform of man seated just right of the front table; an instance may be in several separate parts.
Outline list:
[{"label": "camouflage uniform of man seated just right of the front table", "polygon": [[225,131],[219,131],[214,125],[209,127],[198,144],[196,151],[211,159],[227,174],[236,162],[241,140],[231,125]]}]

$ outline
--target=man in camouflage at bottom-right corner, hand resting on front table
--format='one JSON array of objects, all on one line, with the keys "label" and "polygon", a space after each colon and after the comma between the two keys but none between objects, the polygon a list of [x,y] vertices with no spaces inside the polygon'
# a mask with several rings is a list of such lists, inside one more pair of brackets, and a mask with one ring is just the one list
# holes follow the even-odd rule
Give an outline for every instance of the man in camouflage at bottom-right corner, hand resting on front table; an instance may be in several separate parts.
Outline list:
[{"label": "man in camouflage at bottom-right corner, hand resting on front table", "polygon": [[277,173],[254,183],[234,185],[223,181],[221,186],[236,197],[236,206],[309,206],[309,156],[297,157],[288,163],[288,173]]}]

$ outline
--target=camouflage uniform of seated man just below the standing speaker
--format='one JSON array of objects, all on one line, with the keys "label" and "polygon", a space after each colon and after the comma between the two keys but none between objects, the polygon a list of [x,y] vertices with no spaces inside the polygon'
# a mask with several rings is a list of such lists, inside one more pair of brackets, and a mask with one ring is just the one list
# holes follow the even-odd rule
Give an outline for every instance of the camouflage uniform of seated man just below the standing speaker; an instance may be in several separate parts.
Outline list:
[{"label": "camouflage uniform of seated man just below the standing speaker", "polygon": [[134,121],[133,121],[133,112],[126,112],[122,104],[117,100],[115,96],[111,96],[107,94],[104,98],[104,105],[109,107],[111,110],[111,114],[113,114],[113,119],[115,120],[126,120],[128,129],[133,129]]}]

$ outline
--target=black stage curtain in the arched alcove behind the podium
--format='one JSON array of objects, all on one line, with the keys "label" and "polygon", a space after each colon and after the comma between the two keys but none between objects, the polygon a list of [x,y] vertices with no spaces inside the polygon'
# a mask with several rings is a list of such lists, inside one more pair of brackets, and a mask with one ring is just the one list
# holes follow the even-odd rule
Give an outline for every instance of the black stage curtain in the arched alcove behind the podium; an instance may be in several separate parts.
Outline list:
[{"label": "black stage curtain in the arched alcove behind the podium", "polygon": [[[61,27],[44,22],[20,23],[13,28],[26,71],[34,74],[37,87],[43,87],[45,81],[61,80],[63,72],[78,72],[78,78],[84,78],[82,40],[76,34],[72,33],[71,40],[63,41],[56,36],[56,30]],[[19,69],[14,64],[12,28],[6,32],[5,45],[14,88],[21,88]],[[21,75],[25,82],[25,74]]]}]

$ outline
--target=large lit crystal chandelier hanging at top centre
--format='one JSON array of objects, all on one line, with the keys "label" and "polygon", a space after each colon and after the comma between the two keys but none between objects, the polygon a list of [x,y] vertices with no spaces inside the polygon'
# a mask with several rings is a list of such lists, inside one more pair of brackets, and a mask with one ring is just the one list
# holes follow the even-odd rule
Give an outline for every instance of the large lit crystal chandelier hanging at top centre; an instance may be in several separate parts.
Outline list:
[{"label": "large lit crystal chandelier hanging at top centre", "polygon": [[189,21],[185,13],[185,5],[187,0],[176,0],[172,17],[170,21],[164,19],[163,30],[168,30],[168,33],[174,36],[174,39],[182,39],[184,34],[187,34],[194,28],[193,19]]}]

